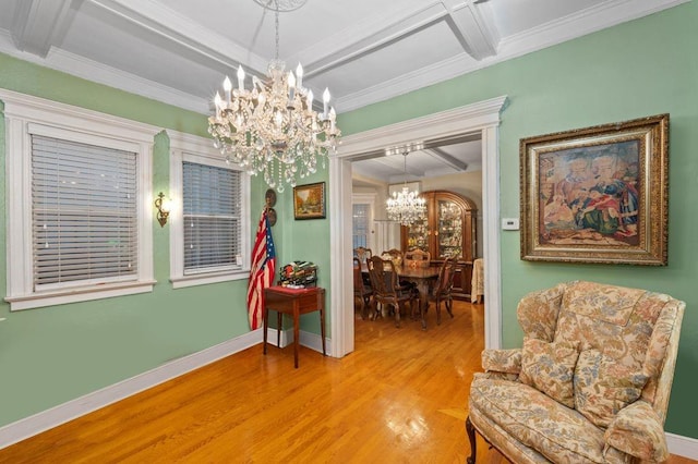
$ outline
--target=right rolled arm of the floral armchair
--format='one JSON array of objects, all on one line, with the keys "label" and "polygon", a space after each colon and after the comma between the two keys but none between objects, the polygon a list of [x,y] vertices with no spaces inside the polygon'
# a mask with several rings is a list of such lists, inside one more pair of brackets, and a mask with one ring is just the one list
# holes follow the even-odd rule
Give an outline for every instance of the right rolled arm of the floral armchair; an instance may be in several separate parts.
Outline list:
[{"label": "right rolled arm of the floral armchair", "polygon": [[605,442],[642,461],[669,459],[666,436],[659,415],[645,401],[636,401],[618,412],[603,436]]}]

